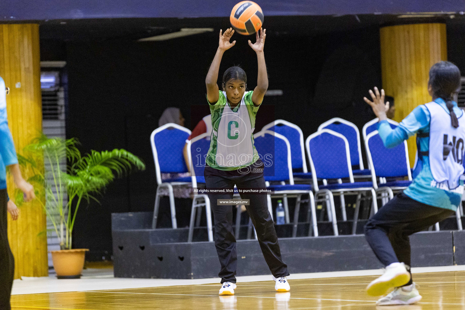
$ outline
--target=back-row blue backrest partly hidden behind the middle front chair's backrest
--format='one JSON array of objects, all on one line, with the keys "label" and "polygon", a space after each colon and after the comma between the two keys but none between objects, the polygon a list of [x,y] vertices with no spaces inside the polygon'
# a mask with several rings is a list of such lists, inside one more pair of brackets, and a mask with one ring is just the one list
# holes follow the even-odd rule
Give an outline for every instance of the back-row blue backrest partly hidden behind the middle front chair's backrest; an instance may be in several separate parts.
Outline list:
[{"label": "back-row blue backrest partly hidden behind the middle front chair's backrest", "polygon": [[364,169],[362,160],[362,149],[360,147],[360,132],[357,126],[345,119],[335,117],[319,125],[318,130],[329,129],[342,134],[349,142],[350,159],[352,165],[358,165]]}]

